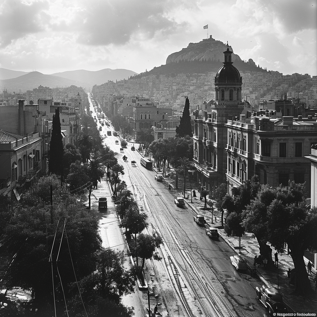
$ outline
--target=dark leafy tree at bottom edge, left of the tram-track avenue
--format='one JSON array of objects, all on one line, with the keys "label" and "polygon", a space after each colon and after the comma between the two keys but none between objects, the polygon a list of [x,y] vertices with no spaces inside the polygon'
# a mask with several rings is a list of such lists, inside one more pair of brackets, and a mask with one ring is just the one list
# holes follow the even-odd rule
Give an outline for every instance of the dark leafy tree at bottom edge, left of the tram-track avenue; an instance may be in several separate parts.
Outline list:
[{"label": "dark leafy tree at bottom edge, left of the tram-track avenue", "polygon": [[124,268],[123,252],[102,248],[94,254],[95,270],[80,281],[81,296],[76,283],[71,285],[68,298],[76,316],[131,317],[133,310],[121,304],[121,296],[133,291],[134,274]]}]

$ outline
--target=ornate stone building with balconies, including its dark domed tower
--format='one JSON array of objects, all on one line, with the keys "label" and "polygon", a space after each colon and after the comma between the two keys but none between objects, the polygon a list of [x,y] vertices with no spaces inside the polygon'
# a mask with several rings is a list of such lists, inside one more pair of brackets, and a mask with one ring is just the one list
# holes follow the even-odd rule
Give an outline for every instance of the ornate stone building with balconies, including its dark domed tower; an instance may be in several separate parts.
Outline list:
[{"label": "ornate stone building with balconies, including its dark domed tower", "polygon": [[[216,101],[210,100],[206,109],[197,111],[194,120],[194,162],[201,186],[212,197],[217,185],[226,181],[228,119],[247,113],[249,103],[241,101],[242,77],[232,65],[231,54],[223,52],[223,66],[215,76]],[[251,109],[250,109],[251,110]]]}]

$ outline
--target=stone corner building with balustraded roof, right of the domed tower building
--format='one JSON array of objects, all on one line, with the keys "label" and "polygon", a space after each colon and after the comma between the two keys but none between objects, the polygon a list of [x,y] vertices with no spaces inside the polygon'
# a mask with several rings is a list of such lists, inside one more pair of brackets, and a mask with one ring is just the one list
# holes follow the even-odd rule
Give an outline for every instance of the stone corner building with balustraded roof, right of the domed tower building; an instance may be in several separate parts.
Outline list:
[{"label": "stone corner building with balustraded roof, right of the domed tower building", "polygon": [[311,145],[317,143],[316,117],[252,116],[228,120],[227,124],[228,192],[258,175],[261,184],[287,186],[288,181],[305,183],[310,191]]}]

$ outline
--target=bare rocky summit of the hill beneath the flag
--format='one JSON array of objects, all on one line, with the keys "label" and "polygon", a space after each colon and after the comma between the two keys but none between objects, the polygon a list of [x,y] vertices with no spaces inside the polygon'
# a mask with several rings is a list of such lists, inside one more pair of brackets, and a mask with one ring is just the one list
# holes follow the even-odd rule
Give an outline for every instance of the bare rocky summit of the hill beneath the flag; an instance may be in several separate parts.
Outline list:
[{"label": "bare rocky summit of the hill beneath the flag", "polygon": [[[233,52],[231,46],[228,46]],[[166,64],[178,61],[223,61],[223,52],[227,49],[227,45],[223,42],[216,41],[212,37],[198,43],[189,43],[187,48],[179,52],[168,55]],[[232,61],[241,61],[239,55],[232,54]]]}]

